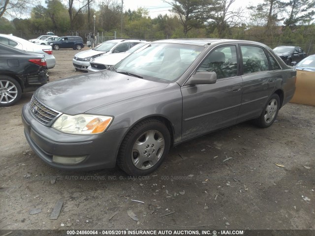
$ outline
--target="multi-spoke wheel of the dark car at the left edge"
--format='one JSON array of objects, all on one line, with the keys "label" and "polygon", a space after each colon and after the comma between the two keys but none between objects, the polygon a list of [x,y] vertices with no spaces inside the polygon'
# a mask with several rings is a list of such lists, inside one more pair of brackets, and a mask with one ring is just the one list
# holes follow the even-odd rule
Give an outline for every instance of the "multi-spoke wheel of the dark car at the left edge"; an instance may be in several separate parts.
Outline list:
[{"label": "multi-spoke wheel of the dark car at the left edge", "polygon": [[19,82],[6,75],[0,76],[0,107],[14,105],[21,95],[22,88]]}]

